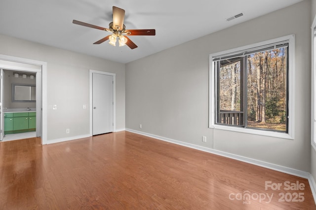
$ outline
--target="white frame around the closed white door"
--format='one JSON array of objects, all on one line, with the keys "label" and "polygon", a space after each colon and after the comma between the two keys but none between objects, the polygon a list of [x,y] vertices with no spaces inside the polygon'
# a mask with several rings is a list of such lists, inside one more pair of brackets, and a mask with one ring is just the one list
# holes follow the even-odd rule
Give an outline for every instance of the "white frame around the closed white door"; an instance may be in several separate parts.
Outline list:
[{"label": "white frame around the closed white door", "polygon": [[116,74],[105,72],[105,71],[97,71],[89,69],[89,135],[92,136],[92,110],[93,110],[93,104],[92,104],[92,74],[105,74],[109,76],[113,76],[113,132],[116,132]]}]

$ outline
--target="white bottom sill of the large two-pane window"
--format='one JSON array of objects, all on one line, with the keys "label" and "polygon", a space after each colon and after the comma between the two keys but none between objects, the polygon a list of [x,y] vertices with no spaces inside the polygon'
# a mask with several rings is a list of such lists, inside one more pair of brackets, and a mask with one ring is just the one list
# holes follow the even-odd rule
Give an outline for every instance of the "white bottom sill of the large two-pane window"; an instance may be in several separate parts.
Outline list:
[{"label": "white bottom sill of the large two-pane window", "polygon": [[270,136],[270,137],[276,137],[276,138],[282,138],[282,139],[290,139],[290,140],[294,139],[294,137],[290,135],[289,133],[281,133],[277,131],[266,131],[266,130],[250,129],[250,128],[243,128],[243,127],[218,125],[218,124],[211,125],[210,128],[235,131],[239,133],[249,133],[249,134],[255,134],[255,135],[260,135],[260,136]]}]

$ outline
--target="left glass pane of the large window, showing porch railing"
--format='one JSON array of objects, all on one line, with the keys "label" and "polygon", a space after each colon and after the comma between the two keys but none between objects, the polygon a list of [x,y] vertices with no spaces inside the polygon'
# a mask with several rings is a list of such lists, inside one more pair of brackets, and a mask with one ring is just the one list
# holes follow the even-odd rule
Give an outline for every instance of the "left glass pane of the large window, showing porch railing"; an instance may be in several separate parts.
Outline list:
[{"label": "left glass pane of the large window, showing porch railing", "polygon": [[218,61],[217,123],[243,125],[242,59]]}]

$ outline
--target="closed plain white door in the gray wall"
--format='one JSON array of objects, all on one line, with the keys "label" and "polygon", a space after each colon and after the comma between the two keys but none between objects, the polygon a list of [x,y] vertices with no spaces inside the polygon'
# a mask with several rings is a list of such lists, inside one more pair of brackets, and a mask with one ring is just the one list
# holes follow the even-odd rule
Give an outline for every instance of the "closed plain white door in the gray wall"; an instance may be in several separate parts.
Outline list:
[{"label": "closed plain white door in the gray wall", "polygon": [[113,132],[113,76],[92,73],[92,135]]}]

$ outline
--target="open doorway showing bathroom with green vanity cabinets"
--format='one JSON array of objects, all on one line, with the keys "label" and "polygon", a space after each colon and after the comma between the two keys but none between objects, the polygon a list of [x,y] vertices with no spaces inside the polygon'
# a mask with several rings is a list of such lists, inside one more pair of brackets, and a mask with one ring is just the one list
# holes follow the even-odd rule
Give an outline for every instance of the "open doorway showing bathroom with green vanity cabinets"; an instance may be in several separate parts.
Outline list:
[{"label": "open doorway showing bathroom with green vanity cabinets", "polygon": [[36,137],[36,72],[2,72],[3,139]]}]

